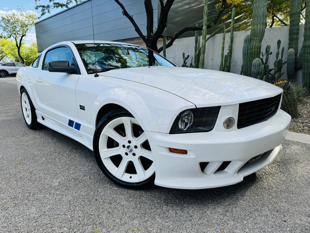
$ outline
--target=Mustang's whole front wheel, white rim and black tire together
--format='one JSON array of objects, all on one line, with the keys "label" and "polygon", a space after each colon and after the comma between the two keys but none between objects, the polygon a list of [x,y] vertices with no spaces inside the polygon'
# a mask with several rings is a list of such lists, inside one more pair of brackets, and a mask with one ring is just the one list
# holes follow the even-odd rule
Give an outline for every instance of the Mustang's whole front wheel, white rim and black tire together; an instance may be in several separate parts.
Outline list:
[{"label": "Mustang's whole front wheel, white rim and black tire together", "polygon": [[127,188],[154,185],[153,154],[145,132],[126,110],[113,110],[96,127],[93,148],[101,171]]}]

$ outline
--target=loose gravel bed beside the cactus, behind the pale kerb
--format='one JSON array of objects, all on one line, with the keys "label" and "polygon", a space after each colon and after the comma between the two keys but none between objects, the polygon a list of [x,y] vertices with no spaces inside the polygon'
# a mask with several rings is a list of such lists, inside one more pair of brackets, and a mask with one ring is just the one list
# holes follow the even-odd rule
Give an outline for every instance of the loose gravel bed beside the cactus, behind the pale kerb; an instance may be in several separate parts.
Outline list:
[{"label": "loose gravel bed beside the cactus, behind the pale kerb", "polygon": [[310,134],[310,98],[298,106],[298,117],[293,118],[290,131]]}]

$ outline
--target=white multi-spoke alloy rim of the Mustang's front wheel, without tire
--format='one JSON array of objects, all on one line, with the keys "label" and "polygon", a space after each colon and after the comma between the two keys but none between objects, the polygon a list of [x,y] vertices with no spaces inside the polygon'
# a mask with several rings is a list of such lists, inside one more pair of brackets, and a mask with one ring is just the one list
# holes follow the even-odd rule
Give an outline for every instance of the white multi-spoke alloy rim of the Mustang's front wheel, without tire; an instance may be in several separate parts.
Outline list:
[{"label": "white multi-spoke alloy rim of the Mustang's front wheel, without tire", "polygon": [[142,182],[155,172],[148,139],[133,117],[116,118],[104,127],[99,153],[108,171],[124,182]]}]

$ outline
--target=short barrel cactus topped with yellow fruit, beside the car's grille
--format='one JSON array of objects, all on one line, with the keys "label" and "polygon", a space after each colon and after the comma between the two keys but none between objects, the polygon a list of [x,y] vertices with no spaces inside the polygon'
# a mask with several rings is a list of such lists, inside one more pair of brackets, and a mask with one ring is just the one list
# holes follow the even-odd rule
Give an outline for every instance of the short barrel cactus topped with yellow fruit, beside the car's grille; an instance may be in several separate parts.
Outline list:
[{"label": "short barrel cactus topped with yellow fruit, beside the car's grille", "polygon": [[281,109],[290,114],[291,117],[297,117],[297,96],[294,85],[286,80],[279,80],[273,84],[283,89]]}]

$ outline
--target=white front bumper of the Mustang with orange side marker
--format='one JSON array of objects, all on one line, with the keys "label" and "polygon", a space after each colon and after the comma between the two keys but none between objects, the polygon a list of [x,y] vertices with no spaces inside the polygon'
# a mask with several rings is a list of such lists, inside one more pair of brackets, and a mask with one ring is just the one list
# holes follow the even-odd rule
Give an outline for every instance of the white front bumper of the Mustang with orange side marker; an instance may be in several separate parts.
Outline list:
[{"label": "white front bumper of the Mustang with orange side marker", "polygon": [[[214,129],[204,133],[171,135],[145,131],[154,155],[155,184],[205,189],[241,182],[244,176],[273,161],[287,135],[291,117],[279,110],[268,121],[240,130],[236,126],[225,130],[221,120],[219,115]],[[188,154],[171,153],[169,147],[185,149]],[[261,158],[247,163],[262,153]],[[229,165],[219,171],[226,161]],[[200,163],[207,166],[201,167]]]}]

